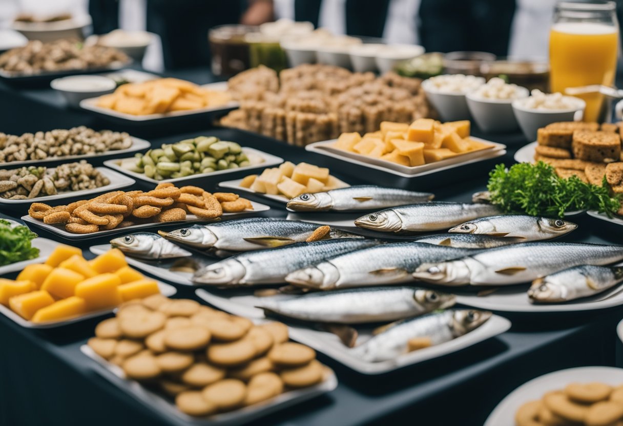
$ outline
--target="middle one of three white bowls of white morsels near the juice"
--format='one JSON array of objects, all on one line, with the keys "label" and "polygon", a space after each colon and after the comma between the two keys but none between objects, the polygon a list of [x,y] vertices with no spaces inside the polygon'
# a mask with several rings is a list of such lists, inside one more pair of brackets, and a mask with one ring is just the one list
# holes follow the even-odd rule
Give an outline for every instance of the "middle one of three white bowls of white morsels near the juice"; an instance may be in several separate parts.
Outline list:
[{"label": "middle one of three white bowls of white morsels near the juice", "polygon": [[[527,98],[530,92],[519,87],[518,99]],[[475,92],[465,95],[467,107],[480,130],[487,133],[509,133],[517,130],[517,119],[513,113],[513,99],[492,99],[478,97]]]}]

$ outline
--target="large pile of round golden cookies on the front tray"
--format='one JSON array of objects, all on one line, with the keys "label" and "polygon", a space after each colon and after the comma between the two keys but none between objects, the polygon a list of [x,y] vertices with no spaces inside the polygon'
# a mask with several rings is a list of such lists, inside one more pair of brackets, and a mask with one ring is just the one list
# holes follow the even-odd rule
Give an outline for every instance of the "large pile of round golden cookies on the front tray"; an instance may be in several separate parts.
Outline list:
[{"label": "large pile of round golden cookies on the front tray", "polygon": [[323,381],[313,349],[288,342],[288,328],[254,325],[194,300],[161,295],[130,301],[95,328],[88,345],[126,376],[206,416],[257,404]]}]

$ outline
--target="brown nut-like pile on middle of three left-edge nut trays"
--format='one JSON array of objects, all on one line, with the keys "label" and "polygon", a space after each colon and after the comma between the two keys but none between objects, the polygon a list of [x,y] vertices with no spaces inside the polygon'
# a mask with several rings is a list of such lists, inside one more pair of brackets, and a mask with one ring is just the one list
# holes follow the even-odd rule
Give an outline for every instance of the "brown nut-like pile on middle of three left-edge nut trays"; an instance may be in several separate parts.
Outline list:
[{"label": "brown nut-like pile on middle of three left-edge nut trays", "polygon": [[95,131],[85,126],[21,136],[0,133],[0,163],[105,153],[131,146],[132,138],[125,132]]}]

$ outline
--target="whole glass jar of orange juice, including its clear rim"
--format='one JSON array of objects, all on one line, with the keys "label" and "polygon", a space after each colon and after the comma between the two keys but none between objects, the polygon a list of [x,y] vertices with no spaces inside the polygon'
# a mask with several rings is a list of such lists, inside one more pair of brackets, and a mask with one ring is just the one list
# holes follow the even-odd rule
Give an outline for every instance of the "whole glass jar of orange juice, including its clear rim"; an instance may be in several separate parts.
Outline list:
[{"label": "whole glass jar of orange juice, including its clear rim", "polygon": [[[612,86],[617,67],[619,23],[616,3],[559,2],[549,32],[551,92],[593,84]],[[602,121],[607,108],[599,93],[586,101],[584,121]]]}]

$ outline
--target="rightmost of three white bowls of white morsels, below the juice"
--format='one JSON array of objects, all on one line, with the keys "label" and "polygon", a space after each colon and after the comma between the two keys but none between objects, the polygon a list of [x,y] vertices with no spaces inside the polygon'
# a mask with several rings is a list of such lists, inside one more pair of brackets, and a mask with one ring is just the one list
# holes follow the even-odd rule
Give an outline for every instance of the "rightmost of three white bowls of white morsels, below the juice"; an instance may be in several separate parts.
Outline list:
[{"label": "rightmost of three white bowls of white morsels, below the juice", "polygon": [[526,98],[513,101],[513,113],[528,141],[535,141],[536,131],[548,124],[557,123],[558,121],[582,120],[586,102],[572,96],[566,96],[565,98],[569,98],[570,102],[575,103],[573,108],[566,110],[535,110],[523,106]]}]

